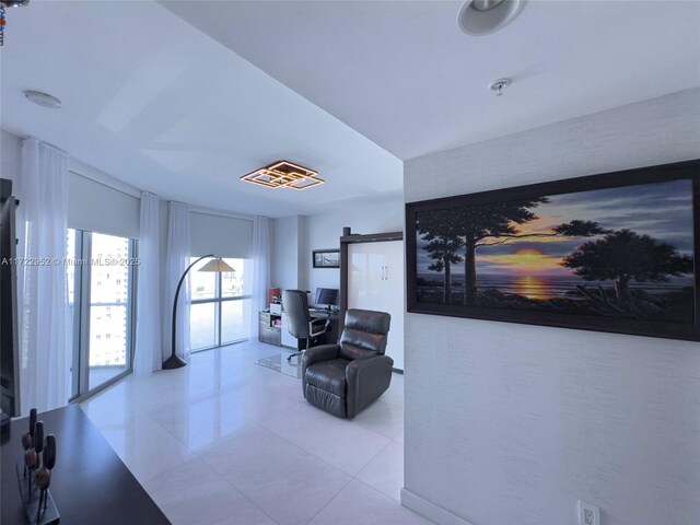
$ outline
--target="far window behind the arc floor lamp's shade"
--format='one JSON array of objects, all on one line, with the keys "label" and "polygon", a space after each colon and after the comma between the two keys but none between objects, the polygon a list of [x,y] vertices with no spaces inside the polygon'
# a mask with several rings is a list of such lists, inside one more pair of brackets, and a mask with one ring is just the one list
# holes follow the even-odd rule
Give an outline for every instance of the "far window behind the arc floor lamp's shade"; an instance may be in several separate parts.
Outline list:
[{"label": "far window behind the arc floor lamp's shade", "polygon": [[[190,262],[197,260],[191,257]],[[190,272],[189,343],[192,351],[246,340],[250,337],[252,265],[248,259],[223,259],[234,271]]]}]

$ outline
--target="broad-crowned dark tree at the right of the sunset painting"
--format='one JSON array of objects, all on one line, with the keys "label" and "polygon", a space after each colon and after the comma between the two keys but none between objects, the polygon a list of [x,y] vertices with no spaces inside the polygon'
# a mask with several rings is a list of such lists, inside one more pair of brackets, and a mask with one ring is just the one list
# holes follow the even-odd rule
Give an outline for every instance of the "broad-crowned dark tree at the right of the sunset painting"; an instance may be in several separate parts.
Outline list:
[{"label": "broad-crowned dark tree at the right of the sunset painting", "polygon": [[680,255],[675,246],[630,230],[607,233],[567,255],[561,265],[574,269],[586,281],[615,280],[618,303],[634,308],[629,282],[667,281],[692,272],[692,257]]}]

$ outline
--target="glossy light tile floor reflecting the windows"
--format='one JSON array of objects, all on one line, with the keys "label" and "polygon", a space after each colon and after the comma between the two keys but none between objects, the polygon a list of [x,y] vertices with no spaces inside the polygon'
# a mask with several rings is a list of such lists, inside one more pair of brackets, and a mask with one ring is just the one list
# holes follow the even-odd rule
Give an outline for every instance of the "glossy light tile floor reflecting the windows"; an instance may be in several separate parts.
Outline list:
[{"label": "glossy light tile floor reflecting the windows", "polygon": [[354,420],[256,364],[275,347],[196,353],[82,404],[176,525],[429,524],[402,508],[404,377]]}]

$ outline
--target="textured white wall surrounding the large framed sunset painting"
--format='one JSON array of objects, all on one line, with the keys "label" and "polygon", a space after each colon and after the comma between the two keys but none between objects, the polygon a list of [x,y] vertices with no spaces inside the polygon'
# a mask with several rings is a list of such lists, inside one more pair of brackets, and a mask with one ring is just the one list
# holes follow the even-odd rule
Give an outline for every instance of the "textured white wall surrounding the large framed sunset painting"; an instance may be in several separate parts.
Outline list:
[{"label": "textured white wall surrounding the large framed sunset painting", "polygon": [[[406,201],[700,158],[700,90],[408,161]],[[405,504],[440,523],[700,523],[700,345],[407,314]],[[452,520],[452,521],[451,521]]]}]

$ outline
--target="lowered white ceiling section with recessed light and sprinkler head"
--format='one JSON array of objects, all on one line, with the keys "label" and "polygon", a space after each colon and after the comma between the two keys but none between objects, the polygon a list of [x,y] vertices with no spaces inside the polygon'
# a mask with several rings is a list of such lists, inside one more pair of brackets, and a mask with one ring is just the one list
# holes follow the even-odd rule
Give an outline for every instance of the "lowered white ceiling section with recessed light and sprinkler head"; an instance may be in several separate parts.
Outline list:
[{"label": "lowered white ceiling section with recessed light and sprinkler head", "polygon": [[163,3],[404,160],[700,85],[698,1],[528,0],[478,37],[462,1]]}]

